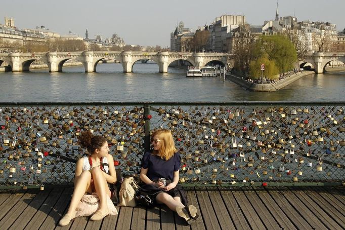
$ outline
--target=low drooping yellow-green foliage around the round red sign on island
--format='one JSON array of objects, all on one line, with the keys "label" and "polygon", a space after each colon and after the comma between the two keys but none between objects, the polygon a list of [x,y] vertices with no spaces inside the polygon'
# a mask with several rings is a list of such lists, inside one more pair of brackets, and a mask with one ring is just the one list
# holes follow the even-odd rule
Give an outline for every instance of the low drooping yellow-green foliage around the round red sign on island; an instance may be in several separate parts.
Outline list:
[{"label": "low drooping yellow-green foliage around the round red sign on island", "polygon": [[278,78],[279,69],[274,60],[269,60],[266,55],[250,62],[249,65],[249,78],[250,79],[261,79],[262,71],[261,64],[265,64],[264,79],[275,80]]}]

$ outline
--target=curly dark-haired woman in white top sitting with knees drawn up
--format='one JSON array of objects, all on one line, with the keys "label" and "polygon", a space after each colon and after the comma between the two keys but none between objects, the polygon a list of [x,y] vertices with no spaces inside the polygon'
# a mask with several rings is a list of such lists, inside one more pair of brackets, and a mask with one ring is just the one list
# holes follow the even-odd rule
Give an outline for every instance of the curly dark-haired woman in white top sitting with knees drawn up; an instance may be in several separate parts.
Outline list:
[{"label": "curly dark-haired woman in white top sitting with knees drawn up", "polygon": [[67,213],[59,222],[60,226],[69,224],[75,218],[76,207],[85,193],[97,193],[100,200],[99,209],[91,216],[91,220],[101,220],[110,213],[107,205],[111,195],[108,183],[116,182],[116,172],[114,164],[109,164],[114,160],[109,154],[107,139],[86,131],[81,133],[78,140],[81,147],[88,150],[89,156],[77,161],[72,200]]}]

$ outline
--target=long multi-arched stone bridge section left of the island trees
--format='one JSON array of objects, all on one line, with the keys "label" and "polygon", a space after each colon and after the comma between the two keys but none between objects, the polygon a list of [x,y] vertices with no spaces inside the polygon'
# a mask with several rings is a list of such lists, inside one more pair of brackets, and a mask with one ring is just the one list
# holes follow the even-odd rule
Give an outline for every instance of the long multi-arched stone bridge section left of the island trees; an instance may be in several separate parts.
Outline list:
[{"label": "long multi-arched stone bridge section left of the island trees", "polygon": [[171,62],[186,60],[193,66],[201,67],[211,61],[226,65],[232,54],[227,53],[183,53],[183,52],[134,52],[134,51],[83,51],[83,52],[48,52],[48,53],[9,53],[0,54],[0,65],[8,63],[13,72],[29,71],[30,64],[34,61],[48,65],[50,72],[62,71],[62,66],[67,60],[81,62],[85,72],[96,71],[97,64],[103,59],[119,61],[123,72],[132,72],[136,61],[151,59],[159,66],[159,72],[167,72]]}]

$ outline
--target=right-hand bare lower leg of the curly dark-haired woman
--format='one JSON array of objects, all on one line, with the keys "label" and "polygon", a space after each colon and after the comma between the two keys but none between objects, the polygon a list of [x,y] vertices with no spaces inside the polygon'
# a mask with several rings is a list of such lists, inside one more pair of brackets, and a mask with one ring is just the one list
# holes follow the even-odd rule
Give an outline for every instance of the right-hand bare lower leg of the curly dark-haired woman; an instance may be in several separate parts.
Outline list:
[{"label": "right-hand bare lower leg of the curly dark-haired woman", "polygon": [[107,180],[102,174],[102,170],[98,167],[95,167],[91,170],[92,178],[94,179],[94,184],[96,188],[96,193],[100,199],[100,208],[103,213],[108,210],[107,206],[107,195],[109,196],[110,190],[107,186]]}]

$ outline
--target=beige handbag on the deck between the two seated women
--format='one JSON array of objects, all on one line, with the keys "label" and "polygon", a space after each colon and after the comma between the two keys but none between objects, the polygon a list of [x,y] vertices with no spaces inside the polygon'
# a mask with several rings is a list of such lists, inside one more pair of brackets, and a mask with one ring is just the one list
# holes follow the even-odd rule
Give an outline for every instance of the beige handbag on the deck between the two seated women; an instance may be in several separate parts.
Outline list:
[{"label": "beige handbag on the deck between the two seated women", "polygon": [[134,197],[138,187],[134,176],[124,178],[119,191],[120,202],[117,206],[136,207],[137,203]]}]

